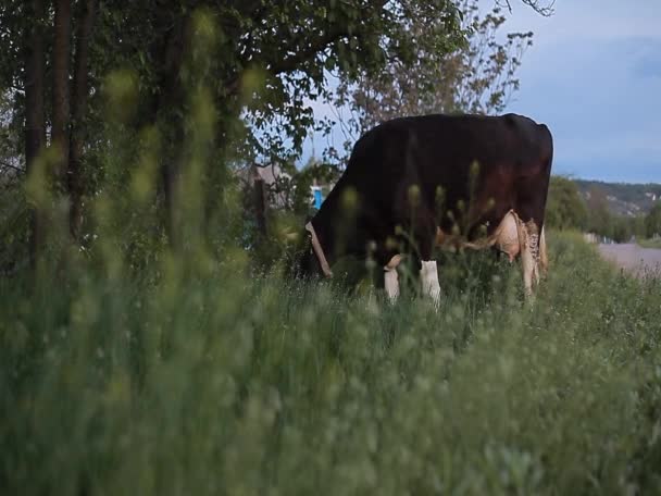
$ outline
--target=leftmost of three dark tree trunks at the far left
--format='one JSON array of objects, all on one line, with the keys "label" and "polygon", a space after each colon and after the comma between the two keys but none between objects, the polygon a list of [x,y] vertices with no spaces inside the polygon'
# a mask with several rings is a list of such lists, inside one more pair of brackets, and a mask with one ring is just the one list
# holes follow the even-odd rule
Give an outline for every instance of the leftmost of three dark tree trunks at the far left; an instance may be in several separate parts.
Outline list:
[{"label": "leftmost of three dark tree trunks at the far left", "polygon": [[[27,176],[34,173],[35,162],[45,145],[43,117],[43,0],[32,1],[33,18],[25,33],[25,168]],[[42,206],[33,206],[30,219],[29,259],[33,269],[43,244],[45,221]]]}]

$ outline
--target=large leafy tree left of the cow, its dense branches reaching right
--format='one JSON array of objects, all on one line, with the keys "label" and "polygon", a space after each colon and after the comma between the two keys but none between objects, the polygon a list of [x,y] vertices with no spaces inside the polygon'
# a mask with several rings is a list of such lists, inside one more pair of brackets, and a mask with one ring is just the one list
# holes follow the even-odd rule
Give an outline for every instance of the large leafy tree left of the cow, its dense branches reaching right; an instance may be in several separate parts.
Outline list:
[{"label": "large leafy tree left of the cow, its dense branches reaching right", "polygon": [[[325,71],[351,79],[359,72],[378,72],[389,61],[410,59],[411,47],[419,41],[402,29],[407,13],[401,3],[236,0],[188,1],[177,8],[158,0],[105,3],[100,40],[115,45],[97,48],[102,55],[95,61],[90,80],[98,84],[100,74],[129,66],[142,88],[139,108],[124,124],[130,129],[157,125],[162,134],[162,195],[173,246],[179,237],[176,184],[186,162],[179,144],[189,137],[184,116],[190,110],[191,90],[207,85],[211,91],[217,110],[214,146],[225,161],[289,160],[300,151],[313,124],[309,101],[327,91]],[[439,40],[450,46],[461,39],[452,2],[420,3],[442,20],[444,28],[434,34],[439,45]],[[200,57],[195,54],[199,51],[195,21],[200,15],[215,32],[201,73],[192,77],[190,61]],[[200,74],[203,80],[197,77]]]}]

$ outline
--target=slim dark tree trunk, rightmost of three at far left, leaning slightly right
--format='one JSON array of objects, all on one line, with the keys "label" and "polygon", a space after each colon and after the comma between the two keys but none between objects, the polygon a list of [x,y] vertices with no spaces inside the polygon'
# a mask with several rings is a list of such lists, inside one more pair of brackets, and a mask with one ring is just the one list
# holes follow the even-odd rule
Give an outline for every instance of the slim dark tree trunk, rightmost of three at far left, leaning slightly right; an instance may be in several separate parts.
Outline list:
[{"label": "slim dark tree trunk, rightmost of three at far left, leaning slightly right", "polygon": [[80,18],[77,23],[76,53],[74,60],[74,80],[71,109],[71,146],[66,186],[71,207],[68,211],[68,228],[74,240],[80,236],[83,224],[83,121],[88,96],[89,44],[92,34],[97,0],[86,0],[83,4]]}]

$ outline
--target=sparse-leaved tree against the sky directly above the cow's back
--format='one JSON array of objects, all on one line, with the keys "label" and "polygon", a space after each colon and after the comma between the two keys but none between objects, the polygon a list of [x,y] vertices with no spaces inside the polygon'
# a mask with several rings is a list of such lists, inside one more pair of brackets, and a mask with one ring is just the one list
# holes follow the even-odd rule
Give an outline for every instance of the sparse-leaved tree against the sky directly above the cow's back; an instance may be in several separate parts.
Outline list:
[{"label": "sparse-leaved tree against the sky directly above the cow's back", "polygon": [[421,40],[412,47],[411,61],[394,61],[379,73],[361,74],[358,82],[340,79],[336,106],[350,110],[342,125],[351,141],[377,123],[402,115],[497,113],[519,88],[515,72],[533,34],[510,33],[499,42],[497,33],[506,22],[500,8],[481,16],[476,0],[459,2],[467,39],[448,46],[442,36],[434,36],[442,33],[442,18],[424,3],[404,4],[408,22],[402,29]]}]

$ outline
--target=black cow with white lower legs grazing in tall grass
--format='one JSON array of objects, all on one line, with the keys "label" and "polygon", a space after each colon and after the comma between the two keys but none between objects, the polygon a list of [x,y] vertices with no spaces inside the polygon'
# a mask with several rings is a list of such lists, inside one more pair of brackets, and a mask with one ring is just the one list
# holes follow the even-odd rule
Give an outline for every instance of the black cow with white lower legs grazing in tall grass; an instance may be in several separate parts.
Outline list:
[{"label": "black cow with white lower legs grazing in tall grass", "polygon": [[[525,294],[547,270],[544,214],[553,145],[516,114],[432,114],[387,121],[354,145],[347,168],[305,224],[303,275],[332,277],[340,257],[372,259],[390,298],[412,253],[423,293],[438,302],[438,246],[497,247],[520,256]],[[541,265],[541,268],[539,266]]]}]

